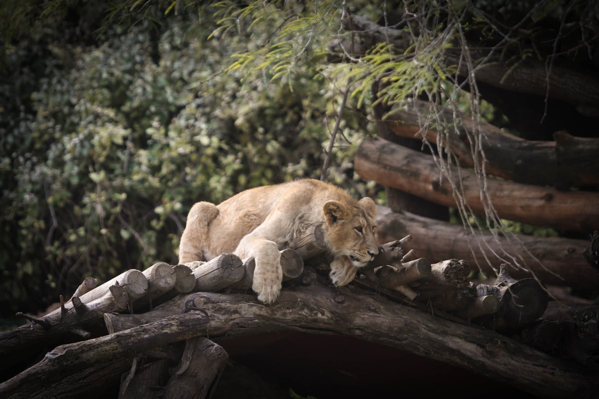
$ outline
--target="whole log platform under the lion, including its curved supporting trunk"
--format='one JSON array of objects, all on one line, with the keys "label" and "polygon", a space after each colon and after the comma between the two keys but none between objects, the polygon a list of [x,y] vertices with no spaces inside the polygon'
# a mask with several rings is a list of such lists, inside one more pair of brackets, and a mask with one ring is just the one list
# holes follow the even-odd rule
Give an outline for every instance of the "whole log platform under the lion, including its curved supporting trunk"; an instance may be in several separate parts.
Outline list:
[{"label": "whole log platform under the lion, including its curved supporting trunk", "polygon": [[592,386],[588,368],[500,334],[538,323],[547,293],[537,280],[502,268],[492,285],[474,286],[466,262],[431,264],[407,250],[407,235],[334,288],[322,237],[312,226],[282,250],[285,282],[271,306],[251,292],[253,259],[231,253],[193,268],[159,262],[100,286],[88,278],[59,309],[0,334],[0,394],[94,397],[120,385],[120,397],[206,397],[228,361],[210,339],[283,330],[351,335],[543,397]]}]

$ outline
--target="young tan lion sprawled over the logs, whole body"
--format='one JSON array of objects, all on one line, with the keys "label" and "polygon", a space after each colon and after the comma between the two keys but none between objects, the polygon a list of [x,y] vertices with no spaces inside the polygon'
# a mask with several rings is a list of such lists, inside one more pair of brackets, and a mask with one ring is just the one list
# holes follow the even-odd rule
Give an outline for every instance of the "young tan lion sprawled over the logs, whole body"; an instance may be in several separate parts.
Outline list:
[{"label": "young tan lion sprawled over the logs, whole body", "polygon": [[264,303],[279,296],[280,249],[308,226],[323,222],[325,240],[334,255],[331,279],[346,285],[378,253],[374,239],[376,207],[370,198],[353,200],[342,189],[304,179],[240,192],[219,205],[197,202],[181,235],[179,263],[208,261],[221,253],[253,256],[252,289]]}]

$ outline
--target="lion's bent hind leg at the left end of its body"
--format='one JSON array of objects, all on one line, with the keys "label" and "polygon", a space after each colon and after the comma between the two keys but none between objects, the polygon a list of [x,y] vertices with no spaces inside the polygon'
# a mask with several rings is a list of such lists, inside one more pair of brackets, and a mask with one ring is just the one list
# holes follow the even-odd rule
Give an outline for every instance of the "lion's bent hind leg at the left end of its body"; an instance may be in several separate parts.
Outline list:
[{"label": "lion's bent hind leg at the left end of its body", "polygon": [[187,214],[185,229],[179,243],[179,264],[208,261],[204,246],[208,242],[208,225],[219,214],[219,208],[211,202],[196,202]]}]

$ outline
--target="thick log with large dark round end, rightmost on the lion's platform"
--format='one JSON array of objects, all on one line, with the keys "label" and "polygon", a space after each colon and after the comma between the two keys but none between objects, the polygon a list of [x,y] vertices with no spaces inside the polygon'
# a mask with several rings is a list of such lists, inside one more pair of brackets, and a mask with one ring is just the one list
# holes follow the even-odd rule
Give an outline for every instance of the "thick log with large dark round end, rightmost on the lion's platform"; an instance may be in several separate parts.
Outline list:
[{"label": "thick log with large dark round end, rightmost on the lion's platform", "polygon": [[500,309],[481,321],[485,327],[510,333],[537,321],[547,309],[547,291],[535,279],[515,280],[502,264],[494,285],[479,284],[478,297],[494,295],[500,301]]}]

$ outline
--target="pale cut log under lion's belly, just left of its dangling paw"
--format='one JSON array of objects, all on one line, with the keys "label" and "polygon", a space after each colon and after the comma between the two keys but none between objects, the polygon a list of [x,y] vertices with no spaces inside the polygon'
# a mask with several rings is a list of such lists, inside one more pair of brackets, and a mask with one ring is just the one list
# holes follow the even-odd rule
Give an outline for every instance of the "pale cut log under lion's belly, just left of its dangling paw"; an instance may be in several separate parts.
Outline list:
[{"label": "pale cut log under lion's belly, just left of its dangling paw", "polygon": [[194,291],[220,291],[243,278],[243,262],[239,256],[223,253],[192,268]]}]

